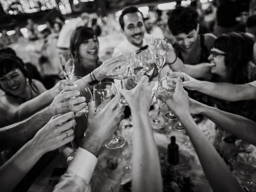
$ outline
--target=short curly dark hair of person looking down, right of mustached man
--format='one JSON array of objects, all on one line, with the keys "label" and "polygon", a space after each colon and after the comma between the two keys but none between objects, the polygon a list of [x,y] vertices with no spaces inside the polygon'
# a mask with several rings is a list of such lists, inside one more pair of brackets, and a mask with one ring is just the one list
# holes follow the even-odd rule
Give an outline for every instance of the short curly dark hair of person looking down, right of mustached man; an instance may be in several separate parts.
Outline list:
[{"label": "short curly dark hair of person looking down, right of mustached man", "polygon": [[198,13],[190,7],[177,6],[169,13],[168,27],[173,35],[188,34],[198,26]]}]

